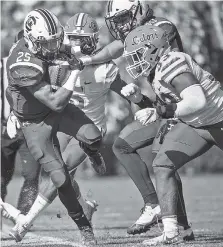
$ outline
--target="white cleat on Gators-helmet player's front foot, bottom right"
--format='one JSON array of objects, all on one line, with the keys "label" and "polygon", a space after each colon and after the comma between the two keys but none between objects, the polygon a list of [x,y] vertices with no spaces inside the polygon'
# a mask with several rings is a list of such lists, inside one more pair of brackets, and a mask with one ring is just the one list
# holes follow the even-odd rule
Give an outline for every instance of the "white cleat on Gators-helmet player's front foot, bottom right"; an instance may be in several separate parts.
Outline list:
[{"label": "white cleat on Gators-helmet player's front foot, bottom right", "polygon": [[184,243],[184,239],[182,235],[180,235],[179,233],[177,233],[172,238],[168,238],[166,234],[163,233],[161,236],[144,240],[142,242],[142,244],[146,246],[159,246],[159,245],[180,244],[180,243]]}]

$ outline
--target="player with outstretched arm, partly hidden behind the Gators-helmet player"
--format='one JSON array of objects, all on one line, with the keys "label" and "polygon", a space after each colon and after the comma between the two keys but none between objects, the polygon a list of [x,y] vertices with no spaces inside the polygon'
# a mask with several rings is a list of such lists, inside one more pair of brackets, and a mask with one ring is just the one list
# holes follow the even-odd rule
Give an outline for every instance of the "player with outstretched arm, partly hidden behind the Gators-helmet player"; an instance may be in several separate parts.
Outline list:
[{"label": "player with outstretched arm, partly hidden behind the Gators-helmet player", "polygon": [[[102,51],[95,54],[94,56],[80,58],[84,64],[101,63],[111,59],[116,59],[121,56],[124,51],[123,42],[126,35],[141,24],[152,24],[166,30],[171,47],[180,51],[183,50],[181,38],[175,25],[165,18],[155,17],[153,15],[153,10],[149,7],[148,4],[144,2],[138,0],[123,0],[121,2],[118,0],[108,1],[107,15],[105,20],[110,33],[116,40],[107,45]],[[123,63],[125,63],[125,61],[123,61]],[[140,78],[138,82],[134,81],[134,83],[139,83],[141,86],[143,85],[143,87],[146,89],[145,93],[147,93],[147,95],[151,95],[151,87],[145,85],[145,83],[148,83],[144,82],[142,78]],[[143,105],[144,100],[145,99],[143,98],[140,103],[141,105]],[[146,232],[154,223],[157,223],[160,219],[158,198],[151,181],[148,168],[144,162],[151,162],[149,162],[151,158],[148,158],[148,154],[146,157],[144,155],[144,147],[151,146],[158,128],[158,122],[152,123],[148,126],[143,126],[138,121],[134,121],[122,130],[119,138],[117,138],[113,145],[113,151],[116,157],[125,167],[129,176],[136,184],[145,203],[139,219],[128,228],[127,232],[129,234]],[[149,156],[152,156],[151,151],[148,148],[146,148],[146,150],[148,150],[147,153],[150,154]],[[179,189],[178,222],[185,230],[185,238],[188,238],[189,234],[189,239],[193,239],[193,233],[189,227],[186,216],[186,209],[182,192],[182,182],[177,173],[176,178]]]}]

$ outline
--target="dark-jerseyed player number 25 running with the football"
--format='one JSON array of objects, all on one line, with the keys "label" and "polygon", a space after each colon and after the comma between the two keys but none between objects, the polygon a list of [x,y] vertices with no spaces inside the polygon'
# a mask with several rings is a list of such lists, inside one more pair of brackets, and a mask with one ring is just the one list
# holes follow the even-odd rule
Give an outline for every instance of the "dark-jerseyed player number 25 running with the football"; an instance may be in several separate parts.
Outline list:
[{"label": "dark-jerseyed player number 25 running with the football", "polygon": [[54,92],[50,85],[48,67],[57,58],[63,38],[63,28],[53,13],[31,11],[24,20],[24,38],[9,53],[6,93],[31,154],[50,176],[84,244],[92,246],[96,243],[92,226],[77,200],[56,133],[76,136],[92,152],[101,134],[83,112],[68,104],[83,69],[75,58],[69,60],[70,74],[63,86]]}]

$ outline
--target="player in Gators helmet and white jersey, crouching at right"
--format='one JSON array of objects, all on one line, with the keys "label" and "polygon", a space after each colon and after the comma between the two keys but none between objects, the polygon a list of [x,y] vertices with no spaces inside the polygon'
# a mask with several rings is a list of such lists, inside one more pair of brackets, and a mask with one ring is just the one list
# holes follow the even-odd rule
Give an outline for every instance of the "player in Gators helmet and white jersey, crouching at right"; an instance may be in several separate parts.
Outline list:
[{"label": "player in Gators helmet and white jersey, crouching at right", "polygon": [[[220,82],[190,55],[173,51],[159,27],[133,30],[125,40],[124,56],[132,77],[153,75],[152,87],[160,101],[155,108],[141,110],[136,118],[143,124],[168,119],[161,125],[162,141],[158,134],[154,142],[158,153],[153,161],[164,232],[144,244],[181,243],[175,172],[213,145],[223,150],[223,91]],[[124,95],[138,94],[137,86],[134,88],[123,89]]]}]

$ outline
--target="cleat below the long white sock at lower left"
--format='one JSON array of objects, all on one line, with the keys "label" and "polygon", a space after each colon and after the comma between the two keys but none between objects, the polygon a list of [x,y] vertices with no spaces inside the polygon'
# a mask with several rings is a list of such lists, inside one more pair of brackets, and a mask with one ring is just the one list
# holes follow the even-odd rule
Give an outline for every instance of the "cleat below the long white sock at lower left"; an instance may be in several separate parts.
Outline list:
[{"label": "cleat below the long white sock at lower left", "polygon": [[10,230],[9,235],[15,239],[16,242],[22,241],[26,233],[30,230],[32,223],[26,222],[26,216],[20,214],[15,226]]}]

